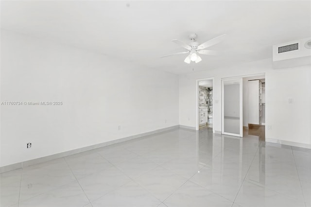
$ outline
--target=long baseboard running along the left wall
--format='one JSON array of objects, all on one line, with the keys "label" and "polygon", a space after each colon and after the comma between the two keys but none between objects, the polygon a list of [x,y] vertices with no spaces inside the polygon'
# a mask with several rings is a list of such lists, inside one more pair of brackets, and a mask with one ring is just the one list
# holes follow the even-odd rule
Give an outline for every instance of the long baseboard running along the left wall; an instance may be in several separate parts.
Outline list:
[{"label": "long baseboard running along the left wall", "polygon": [[105,146],[108,146],[108,145],[111,145],[111,144],[116,144],[116,143],[119,143],[119,142],[131,140],[131,139],[135,139],[135,138],[141,138],[141,137],[145,137],[145,136],[148,136],[148,135],[153,135],[153,134],[169,131],[169,130],[176,129],[176,128],[179,128],[179,125],[170,126],[170,127],[163,128],[163,129],[157,129],[155,131],[141,133],[141,134],[138,134],[138,135],[133,135],[133,136],[129,136],[129,137],[125,137],[125,138],[120,138],[120,139],[116,139],[116,140],[111,140],[111,141],[107,141],[107,142],[103,142],[103,143],[99,143],[99,144],[95,144],[95,145],[91,145],[91,146],[82,147],[82,148],[79,148],[79,149],[74,149],[74,150],[70,150],[70,151],[66,151],[66,152],[62,152],[62,153],[57,153],[57,154],[54,154],[54,155],[49,155],[49,156],[39,157],[39,158],[36,158],[36,159],[26,160],[26,161],[23,161],[23,162],[19,162],[19,163],[7,165],[7,166],[2,166],[2,167],[0,167],[0,173],[5,173],[5,172],[8,172],[8,171],[17,170],[17,169],[20,169],[20,168],[23,168],[23,167],[27,167],[27,166],[30,166],[30,165],[35,165],[35,164],[46,162],[46,161],[50,161],[50,160],[53,160],[53,159],[58,159],[58,158],[61,158],[61,157],[64,157],[64,156],[74,155],[74,154],[77,154],[77,153],[86,152],[86,151],[93,150],[93,149],[96,149],[96,148],[105,147]]}]

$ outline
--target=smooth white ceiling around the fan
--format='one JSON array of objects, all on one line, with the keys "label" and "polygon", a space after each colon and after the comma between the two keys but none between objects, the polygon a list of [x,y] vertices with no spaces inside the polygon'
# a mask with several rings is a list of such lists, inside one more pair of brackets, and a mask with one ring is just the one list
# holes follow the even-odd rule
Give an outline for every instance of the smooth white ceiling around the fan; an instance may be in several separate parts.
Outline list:
[{"label": "smooth white ceiling around the fan", "polygon": [[[272,57],[272,45],[311,36],[311,1],[3,1],[1,29],[34,35],[172,73]],[[171,39],[196,33],[218,56],[197,64]]]}]

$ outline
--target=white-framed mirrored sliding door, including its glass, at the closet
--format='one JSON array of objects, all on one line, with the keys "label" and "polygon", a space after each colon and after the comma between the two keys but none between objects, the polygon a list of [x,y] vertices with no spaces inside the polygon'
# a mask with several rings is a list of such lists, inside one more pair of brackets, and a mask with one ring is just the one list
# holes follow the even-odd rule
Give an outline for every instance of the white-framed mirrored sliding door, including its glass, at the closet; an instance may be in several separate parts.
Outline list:
[{"label": "white-framed mirrored sliding door, including its glass, at the closet", "polygon": [[222,80],[222,134],[243,137],[242,78]]}]

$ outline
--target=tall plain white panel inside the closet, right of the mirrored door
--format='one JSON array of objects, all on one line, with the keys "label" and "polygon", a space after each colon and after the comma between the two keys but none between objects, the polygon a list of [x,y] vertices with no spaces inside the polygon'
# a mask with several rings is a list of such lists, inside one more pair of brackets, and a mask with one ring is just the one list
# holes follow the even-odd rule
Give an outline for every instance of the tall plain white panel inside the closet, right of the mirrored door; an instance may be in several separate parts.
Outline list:
[{"label": "tall plain white panel inside the closet, right of the mirrored door", "polygon": [[248,123],[261,124],[262,87],[259,80],[248,81]]}]

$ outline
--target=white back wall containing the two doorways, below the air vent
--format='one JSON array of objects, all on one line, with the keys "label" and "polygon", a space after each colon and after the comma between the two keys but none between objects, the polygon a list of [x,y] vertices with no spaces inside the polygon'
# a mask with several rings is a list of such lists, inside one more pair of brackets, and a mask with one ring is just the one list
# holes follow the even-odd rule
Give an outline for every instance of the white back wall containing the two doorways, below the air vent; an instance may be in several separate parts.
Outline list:
[{"label": "white back wall containing the two doorways, below the air vent", "polygon": [[[221,131],[221,78],[266,74],[266,138],[311,144],[311,66],[273,69],[272,60],[248,62],[222,69],[179,75],[179,124],[196,125],[196,80],[214,77],[213,110],[216,132]],[[294,98],[294,104],[288,99]],[[311,145],[310,145],[311,146]]]}]

